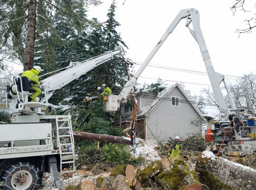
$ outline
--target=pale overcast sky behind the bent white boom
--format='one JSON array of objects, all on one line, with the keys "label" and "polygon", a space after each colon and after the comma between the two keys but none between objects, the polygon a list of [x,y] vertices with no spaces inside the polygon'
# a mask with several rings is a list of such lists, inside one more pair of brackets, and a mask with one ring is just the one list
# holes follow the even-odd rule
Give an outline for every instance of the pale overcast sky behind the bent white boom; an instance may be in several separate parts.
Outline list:
[{"label": "pale overcast sky behind the bent white boom", "polygon": [[[246,23],[243,21],[245,18],[251,18],[253,14],[237,11],[233,16],[230,7],[234,2],[231,0],[117,1],[116,20],[121,24],[117,31],[120,32],[122,40],[129,47],[126,57],[137,62],[143,62],[179,11],[194,7],[200,12],[201,29],[215,71],[235,76],[242,76],[244,73],[250,72],[255,73],[254,42],[256,41],[256,30],[252,34],[242,34],[240,37],[238,37],[238,33],[234,32],[236,29],[244,29]],[[103,0],[102,5],[89,7],[89,17],[97,17],[101,22],[106,21],[111,3],[111,0]],[[124,5],[122,5],[123,3]],[[247,4],[245,8],[251,9],[253,6],[253,4]],[[164,67],[206,72],[200,49],[185,26],[185,22],[183,20],[179,23],[150,63],[164,65]],[[206,75],[157,67],[147,67],[138,80],[140,83],[156,82],[156,80],[145,77],[210,84]],[[234,82],[234,80],[230,81]],[[191,90],[193,94],[198,94],[203,87],[207,87],[189,83],[184,84],[186,89]]]}]

